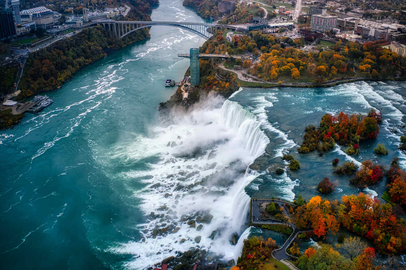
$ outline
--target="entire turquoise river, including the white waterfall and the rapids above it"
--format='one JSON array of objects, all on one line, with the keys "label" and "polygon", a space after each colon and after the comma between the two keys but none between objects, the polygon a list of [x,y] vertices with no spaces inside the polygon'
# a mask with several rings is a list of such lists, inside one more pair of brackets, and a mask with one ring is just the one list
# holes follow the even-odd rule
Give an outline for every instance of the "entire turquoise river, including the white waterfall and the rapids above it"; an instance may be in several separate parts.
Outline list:
[{"label": "entire turquoise river, including the white waterfall and the rapids above it", "polygon": [[[160,2],[153,20],[203,21],[181,1]],[[0,133],[2,269],[145,269],[197,246],[235,259],[249,234],[279,244],[286,239],[247,228],[250,197],[309,199],[326,176],[339,184],[324,198],[359,192],[348,177],[332,174],[335,157],[389,164],[398,156],[404,166],[397,145],[406,123],[405,83],[242,88],[228,100],[211,96],[188,114],[175,113],[171,125],[161,123],[158,104],[175,91],[164,81],[179,81],[189,66],[177,53],[204,40],[177,28],[154,26],[150,33],[150,40],[80,70],[48,93],[52,105]],[[384,121],[359,156],[340,147],[324,156],[297,153],[304,127],[325,113],[372,107]],[[389,155],[374,155],[378,143]],[[283,153],[294,155],[300,170],[275,176],[247,169],[255,159],[265,168],[286,166]],[[384,188],[382,181],[364,192],[380,197]],[[203,213],[213,218],[199,231],[181,221]]]}]

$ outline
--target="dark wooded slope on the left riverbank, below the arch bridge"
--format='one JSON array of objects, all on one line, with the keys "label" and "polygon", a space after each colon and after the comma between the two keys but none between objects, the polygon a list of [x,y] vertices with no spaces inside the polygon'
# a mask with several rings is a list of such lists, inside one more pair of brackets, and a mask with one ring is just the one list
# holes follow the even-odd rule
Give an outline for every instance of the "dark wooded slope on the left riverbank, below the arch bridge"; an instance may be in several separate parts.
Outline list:
[{"label": "dark wooded slope on the left riverbank, below the arch bridge", "polygon": [[83,66],[106,56],[109,51],[143,40],[148,35],[147,28],[143,28],[123,39],[117,39],[97,26],[86,28],[80,34],[58,42],[52,49],[45,48],[37,56],[28,57],[19,86],[21,98],[55,89]]}]

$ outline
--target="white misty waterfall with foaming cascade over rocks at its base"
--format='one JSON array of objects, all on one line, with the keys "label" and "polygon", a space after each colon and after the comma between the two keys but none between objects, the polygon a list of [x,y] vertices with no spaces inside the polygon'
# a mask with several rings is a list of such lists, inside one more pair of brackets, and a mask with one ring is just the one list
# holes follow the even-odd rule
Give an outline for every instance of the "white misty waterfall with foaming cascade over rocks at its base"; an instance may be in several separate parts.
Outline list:
[{"label": "white misty waterfall with foaming cascade over rocks at its base", "polygon": [[[129,181],[143,179],[140,181],[147,187],[134,191],[134,196],[142,200],[145,216],[150,217],[151,212],[159,215],[138,226],[142,240],[109,249],[134,256],[126,263],[127,268],[145,269],[176,255],[176,251],[197,246],[226,259],[238,257],[235,252],[240,252],[231,236],[243,233],[250,200],[244,188],[259,175],[248,165],[264,152],[269,139],[255,115],[230,100],[211,97],[188,113],[176,115],[173,124],[153,128],[151,136],[131,145],[118,145],[112,157],[134,162],[160,159],[157,164],[149,164],[147,170],[123,175]],[[213,216],[210,223],[196,222],[196,227],[187,224],[203,213]],[[197,230],[199,225],[203,227]],[[176,232],[170,233],[175,227]],[[162,228],[168,230],[153,238],[153,230]],[[242,234],[240,245],[247,235]],[[195,242],[198,236],[199,243]],[[186,241],[181,243],[181,239]]]}]

